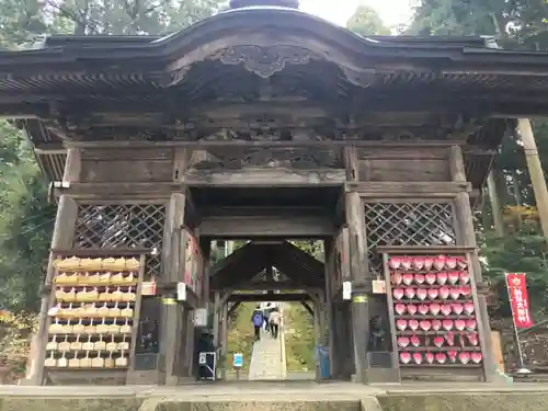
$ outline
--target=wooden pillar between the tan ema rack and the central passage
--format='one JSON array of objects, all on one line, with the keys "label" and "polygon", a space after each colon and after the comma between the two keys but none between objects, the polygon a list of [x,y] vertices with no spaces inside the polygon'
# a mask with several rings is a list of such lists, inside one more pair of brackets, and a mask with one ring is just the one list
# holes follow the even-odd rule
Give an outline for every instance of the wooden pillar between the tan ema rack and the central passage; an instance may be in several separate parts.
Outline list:
[{"label": "wooden pillar between the tan ema rack and the central passage", "polygon": [[[165,227],[162,244],[162,282],[174,283],[184,278],[184,206],[185,195],[173,193],[165,213]],[[176,367],[181,366],[176,353],[183,343],[183,312],[181,305],[162,305],[162,328],[160,330],[160,354],[165,368],[165,385],[176,385],[179,381]],[[185,350],[185,356],[192,355]],[[178,364],[179,363],[179,364]],[[184,362],[183,362],[184,363]],[[162,377],[162,376],[160,376]],[[162,380],[162,378],[160,378]]]}]

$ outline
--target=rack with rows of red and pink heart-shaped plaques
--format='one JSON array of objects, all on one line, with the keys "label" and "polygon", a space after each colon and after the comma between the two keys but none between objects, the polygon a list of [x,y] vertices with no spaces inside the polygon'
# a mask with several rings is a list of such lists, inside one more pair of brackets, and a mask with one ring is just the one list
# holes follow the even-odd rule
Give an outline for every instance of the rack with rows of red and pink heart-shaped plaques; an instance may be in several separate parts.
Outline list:
[{"label": "rack with rows of red and pink heart-shaped plaques", "polygon": [[481,368],[467,254],[385,255],[392,332],[401,368]]}]

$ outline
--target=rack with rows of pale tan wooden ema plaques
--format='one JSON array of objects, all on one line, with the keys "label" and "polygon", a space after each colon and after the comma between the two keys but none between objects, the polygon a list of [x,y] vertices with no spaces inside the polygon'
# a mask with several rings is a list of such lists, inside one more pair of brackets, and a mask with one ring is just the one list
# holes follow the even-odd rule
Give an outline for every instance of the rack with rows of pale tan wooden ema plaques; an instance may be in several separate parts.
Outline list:
[{"label": "rack with rows of pale tan wooden ema plaques", "polygon": [[71,256],[54,267],[45,368],[127,369],[142,261]]}]

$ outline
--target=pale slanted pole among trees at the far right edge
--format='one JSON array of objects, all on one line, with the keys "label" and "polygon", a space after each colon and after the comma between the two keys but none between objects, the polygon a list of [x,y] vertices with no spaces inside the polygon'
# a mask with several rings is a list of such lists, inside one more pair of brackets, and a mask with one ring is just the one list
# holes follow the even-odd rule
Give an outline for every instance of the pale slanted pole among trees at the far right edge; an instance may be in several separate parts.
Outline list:
[{"label": "pale slanted pole among trees at the far right edge", "polygon": [[517,121],[520,135],[522,137],[523,149],[525,151],[525,160],[527,161],[527,169],[529,171],[530,183],[533,192],[535,193],[535,201],[537,203],[538,217],[543,228],[545,239],[548,238],[548,190],[546,189],[546,179],[543,171],[543,164],[538,157],[537,144],[535,135],[528,118],[520,118]]}]

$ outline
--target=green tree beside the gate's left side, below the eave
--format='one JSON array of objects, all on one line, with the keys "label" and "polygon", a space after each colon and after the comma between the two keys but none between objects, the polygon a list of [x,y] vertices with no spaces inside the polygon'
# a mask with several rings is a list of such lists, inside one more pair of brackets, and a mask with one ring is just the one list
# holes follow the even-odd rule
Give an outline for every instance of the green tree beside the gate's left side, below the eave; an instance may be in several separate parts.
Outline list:
[{"label": "green tree beside the gate's left side, below the eave", "polygon": [[35,310],[55,209],[22,134],[0,123],[0,304]]}]

